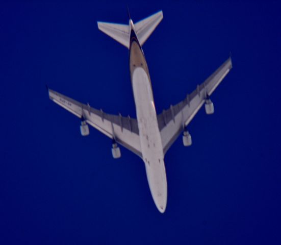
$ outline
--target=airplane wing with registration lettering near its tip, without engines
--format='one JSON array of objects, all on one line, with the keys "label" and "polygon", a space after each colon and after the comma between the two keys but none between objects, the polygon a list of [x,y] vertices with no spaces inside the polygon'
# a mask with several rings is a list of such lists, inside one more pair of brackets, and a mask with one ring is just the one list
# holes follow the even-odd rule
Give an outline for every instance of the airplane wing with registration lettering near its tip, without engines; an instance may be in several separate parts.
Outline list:
[{"label": "airplane wing with registration lettering near its tip, without engines", "polygon": [[82,104],[61,93],[48,89],[50,100],[68,110],[75,116],[84,118],[89,125],[104,133],[110,138],[114,138],[125,148],[134,152],[138,156],[141,154],[139,140],[138,122],[134,118],[111,115],[90,107],[89,104]]}]

